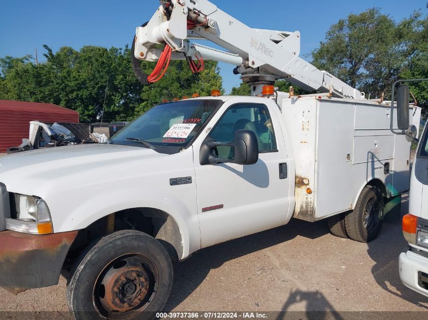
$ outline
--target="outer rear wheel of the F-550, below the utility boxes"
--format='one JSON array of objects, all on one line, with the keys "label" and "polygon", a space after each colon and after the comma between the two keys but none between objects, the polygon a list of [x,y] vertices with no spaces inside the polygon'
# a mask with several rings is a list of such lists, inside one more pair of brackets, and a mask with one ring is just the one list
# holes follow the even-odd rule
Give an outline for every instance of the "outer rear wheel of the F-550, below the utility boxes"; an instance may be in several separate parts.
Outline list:
[{"label": "outer rear wheel of the F-550, below the utility boxes", "polygon": [[383,197],[377,187],[366,186],[360,194],[355,208],[345,217],[346,233],[359,242],[376,239],[382,226]]}]

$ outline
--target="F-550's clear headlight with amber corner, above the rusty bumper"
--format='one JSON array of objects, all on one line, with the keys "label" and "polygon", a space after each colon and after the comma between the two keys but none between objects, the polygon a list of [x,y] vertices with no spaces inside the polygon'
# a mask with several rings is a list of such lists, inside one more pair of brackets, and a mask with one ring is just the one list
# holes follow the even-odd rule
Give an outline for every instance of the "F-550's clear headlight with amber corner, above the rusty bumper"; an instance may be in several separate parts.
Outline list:
[{"label": "F-550's clear headlight with amber corner, above the rusty bumper", "polygon": [[16,219],[6,219],[6,228],[13,231],[45,235],[53,233],[52,218],[45,200],[15,194]]}]

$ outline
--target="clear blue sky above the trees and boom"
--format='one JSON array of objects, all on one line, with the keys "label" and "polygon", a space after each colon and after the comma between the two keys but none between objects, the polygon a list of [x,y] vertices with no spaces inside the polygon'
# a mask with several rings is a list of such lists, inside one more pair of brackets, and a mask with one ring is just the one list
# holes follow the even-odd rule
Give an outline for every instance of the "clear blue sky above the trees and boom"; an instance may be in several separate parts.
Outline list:
[{"label": "clear blue sky above the trees and boom", "polygon": [[[379,7],[401,20],[414,10],[425,9],[428,0],[279,1],[212,0],[218,8],[250,27],[301,33],[300,56],[310,53],[324,39],[333,23],[349,13]],[[43,60],[43,44],[57,51],[63,45],[80,49],[85,44],[123,48],[135,27],[147,21],[158,0],[2,0],[0,4],[0,57],[34,54]],[[226,93],[241,80],[234,66],[220,64]]]}]

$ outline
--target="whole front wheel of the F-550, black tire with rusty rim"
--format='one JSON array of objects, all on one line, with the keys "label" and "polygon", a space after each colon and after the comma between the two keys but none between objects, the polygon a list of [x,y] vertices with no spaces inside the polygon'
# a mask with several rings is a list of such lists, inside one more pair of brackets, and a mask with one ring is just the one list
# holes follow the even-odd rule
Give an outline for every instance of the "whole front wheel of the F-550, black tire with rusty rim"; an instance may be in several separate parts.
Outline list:
[{"label": "whole front wheel of the F-550, black tire with rusty rim", "polygon": [[171,292],[171,258],[162,244],[133,230],[92,243],[76,260],[67,305],[77,320],[149,319]]}]

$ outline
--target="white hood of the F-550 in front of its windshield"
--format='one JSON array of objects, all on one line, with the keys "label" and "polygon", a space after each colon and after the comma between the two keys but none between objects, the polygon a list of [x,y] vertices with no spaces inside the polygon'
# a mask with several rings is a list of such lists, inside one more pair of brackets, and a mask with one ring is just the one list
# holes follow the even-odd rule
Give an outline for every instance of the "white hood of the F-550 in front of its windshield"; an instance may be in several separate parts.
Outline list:
[{"label": "white hood of the F-550 in front of its windshield", "polygon": [[0,158],[0,182],[10,192],[38,196],[35,190],[48,181],[66,176],[97,179],[108,175],[113,165],[126,168],[127,162],[165,155],[147,148],[107,144],[33,150]]}]

